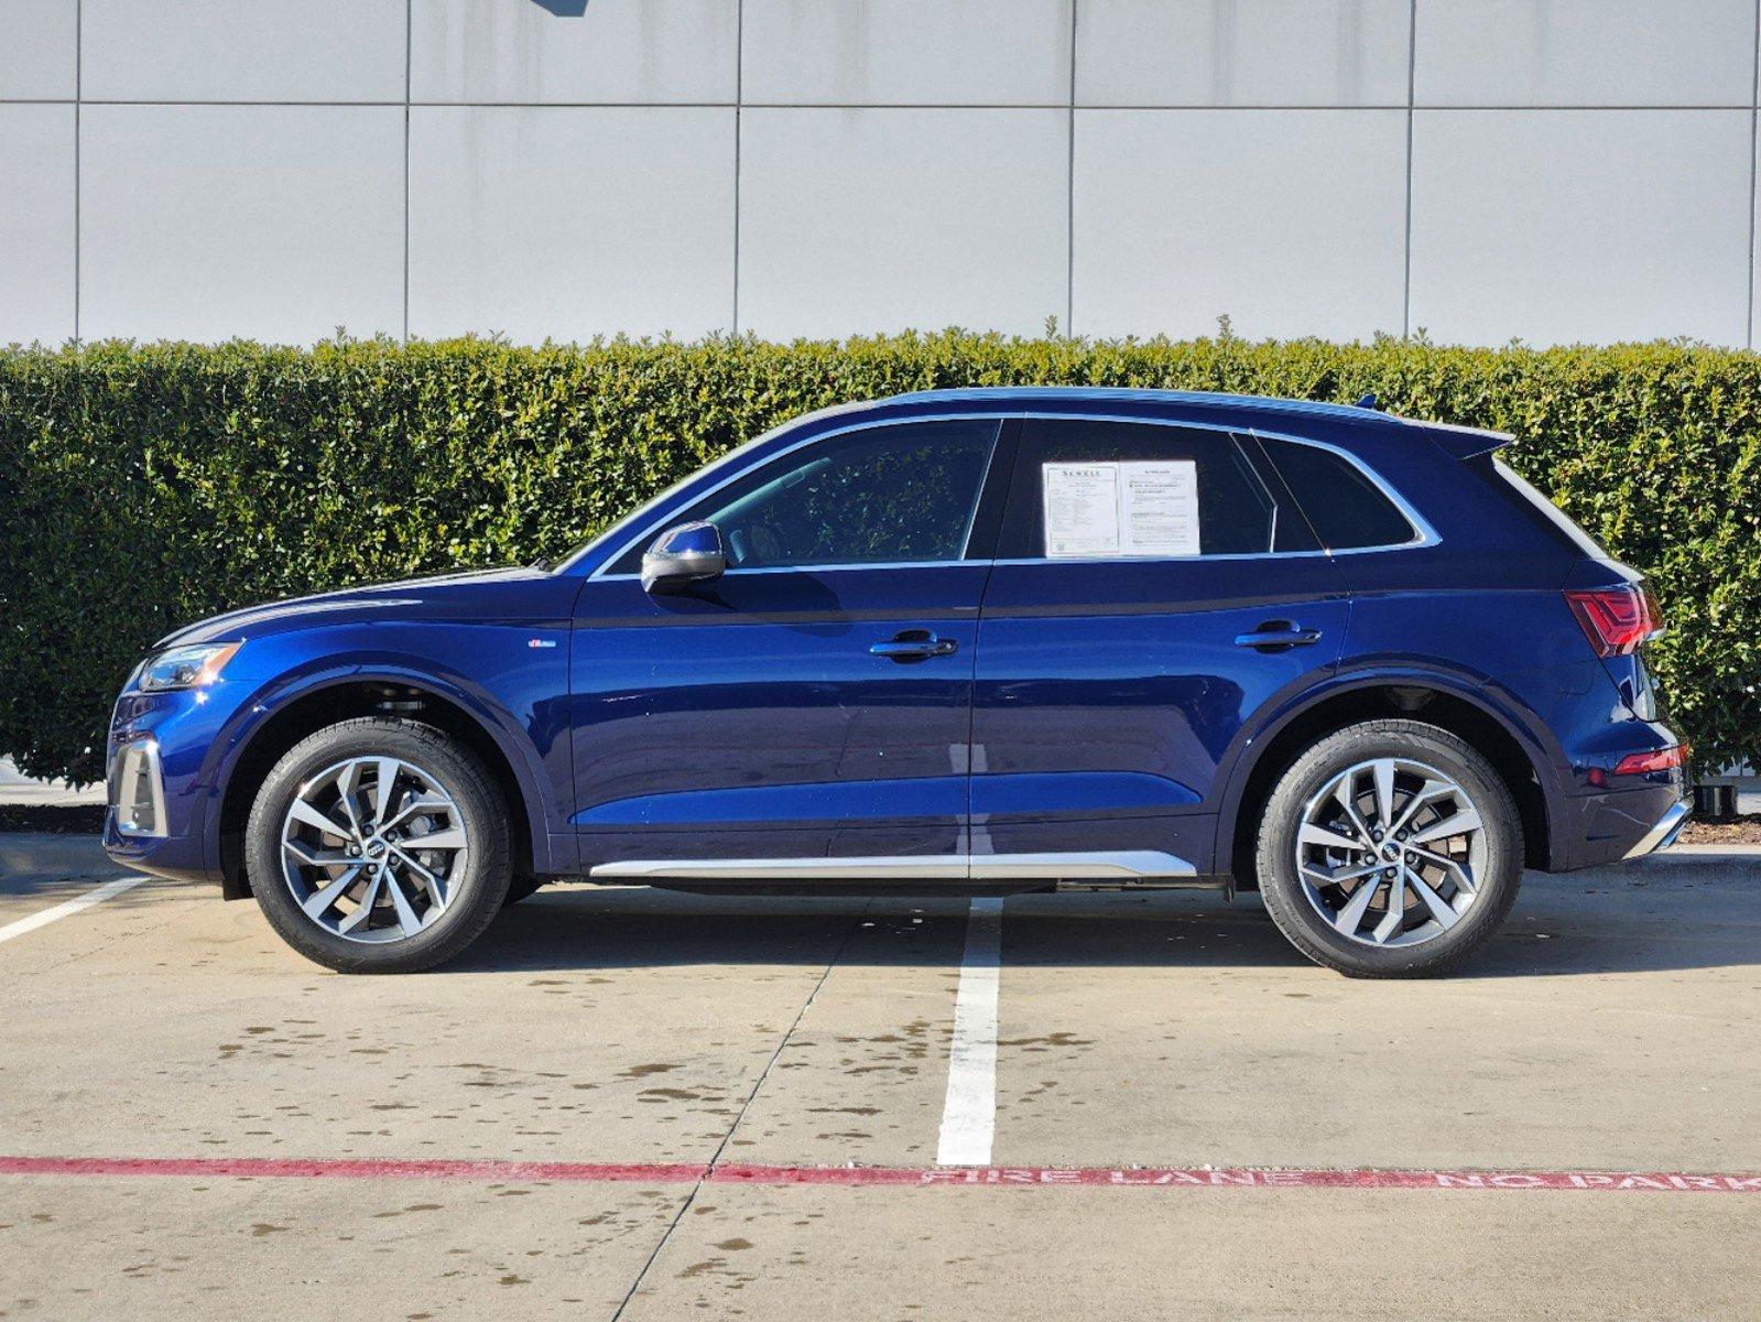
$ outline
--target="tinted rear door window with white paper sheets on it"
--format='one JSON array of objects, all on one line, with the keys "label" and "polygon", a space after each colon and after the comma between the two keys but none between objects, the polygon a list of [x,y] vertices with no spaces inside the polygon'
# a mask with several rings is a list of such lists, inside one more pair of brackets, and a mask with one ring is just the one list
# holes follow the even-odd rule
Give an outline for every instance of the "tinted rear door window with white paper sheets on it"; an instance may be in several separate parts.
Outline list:
[{"label": "tinted rear door window with white paper sheets on it", "polygon": [[1250,555],[1273,548],[1277,525],[1271,492],[1226,432],[1043,420],[1023,427],[997,553]]}]

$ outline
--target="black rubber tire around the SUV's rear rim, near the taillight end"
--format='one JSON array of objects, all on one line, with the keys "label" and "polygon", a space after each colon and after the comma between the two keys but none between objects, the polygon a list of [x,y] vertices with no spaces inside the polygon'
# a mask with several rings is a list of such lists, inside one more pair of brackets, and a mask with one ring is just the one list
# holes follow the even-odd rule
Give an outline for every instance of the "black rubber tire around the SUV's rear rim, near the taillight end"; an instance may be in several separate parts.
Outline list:
[{"label": "black rubber tire around the SUV's rear rim, near the taillight end", "polygon": [[[1379,947],[1344,936],[1321,917],[1296,867],[1298,836],[1310,800],[1347,769],[1379,758],[1423,763],[1453,779],[1472,802],[1485,832],[1485,862],[1474,878],[1472,902],[1455,925],[1416,945]],[[1522,885],[1522,816],[1509,786],[1465,740],[1421,721],[1365,721],[1312,744],[1278,777],[1259,823],[1254,865],[1266,911],[1308,959],[1356,978],[1425,977],[1467,957],[1504,924]],[[1382,901],[1384,915],[1386,910],[1388,899]],[[1412,908],[1412,913],[1416,922],[1425,920],[1423,910]]]}]

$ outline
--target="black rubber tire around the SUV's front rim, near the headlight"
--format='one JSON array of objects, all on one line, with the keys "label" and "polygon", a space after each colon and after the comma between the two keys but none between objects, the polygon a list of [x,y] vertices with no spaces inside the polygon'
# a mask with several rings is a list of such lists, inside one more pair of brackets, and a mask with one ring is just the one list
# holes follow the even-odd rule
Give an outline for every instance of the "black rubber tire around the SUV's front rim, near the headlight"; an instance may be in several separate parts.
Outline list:
[{"label": "black rubber tire around the SUV's front rim, near the headlight", "polygon": [[[470,841],[444,911],[412,936],[365,943],[306,917],[282,873],[282,825],[301,784],[349,758],[400,758],[421,767],[458,806]],[[269,925],[306,959],[338,973],[414,973],[475,941],[502,910],[512,878],[507,804],[477,756],[417,721],[359,717],[308,735],[275,763],[245,825],[245,867]]]}]

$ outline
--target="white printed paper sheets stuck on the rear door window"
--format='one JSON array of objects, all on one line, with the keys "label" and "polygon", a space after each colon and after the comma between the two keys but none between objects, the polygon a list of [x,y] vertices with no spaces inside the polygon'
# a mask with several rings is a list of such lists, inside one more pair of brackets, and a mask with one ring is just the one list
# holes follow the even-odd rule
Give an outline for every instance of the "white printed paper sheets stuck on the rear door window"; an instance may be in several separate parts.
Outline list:
[{"label": "white printed paper sheets stuck on the rear door window", "polygon": [[1046,557],[1197,555],[1199,483],[1190,458],[1044,464]]}]

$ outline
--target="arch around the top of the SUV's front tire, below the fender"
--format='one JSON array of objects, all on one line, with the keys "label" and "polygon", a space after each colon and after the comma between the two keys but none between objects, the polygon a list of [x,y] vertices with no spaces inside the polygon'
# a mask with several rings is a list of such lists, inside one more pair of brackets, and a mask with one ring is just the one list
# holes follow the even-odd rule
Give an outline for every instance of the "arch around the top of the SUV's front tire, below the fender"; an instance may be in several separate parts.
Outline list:
[{"label": "arch around the top of the SUV's front tire, below the fender", "polygon": [[519,753],[507,747],[507,735],[475,707],[467,694],[449,691],[431,677],[403,673],[331,677],[254,707],[257,719],[238,737],[225,772],[218,777],[218,811],[211,818],[211,844],[225,899],[250,894],[243,836],[262,777],[306,735],[359,716],[405,716],[458,739],[484,763],[507,802],[516,876],[549,871],[542,793],[532,784],[530,769],[523,767]]}]

